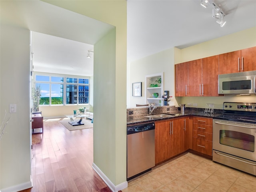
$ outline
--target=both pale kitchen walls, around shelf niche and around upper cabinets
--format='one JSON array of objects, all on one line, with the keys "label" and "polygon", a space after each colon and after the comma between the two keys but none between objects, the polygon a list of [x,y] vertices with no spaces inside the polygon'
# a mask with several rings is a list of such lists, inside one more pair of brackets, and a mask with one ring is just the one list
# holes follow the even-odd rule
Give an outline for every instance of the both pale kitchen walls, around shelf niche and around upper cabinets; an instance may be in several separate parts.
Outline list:
[{"label": "both pale kitchen walls, around shelf niche and around upper cabinets", "polygon": [[[171,48],[163,52],[131,62],[130,83],[127,95],[130,107],[145,103],[145,75],[164,72],[164,90],[170,91],[170,105],[196,103],[198,108],[205,108],[206,103],[214,103],[217,109],[223,109],[223,102],[255,102],[256,96],[219,96],[219,97],[175,97],[174,64],[205,58],[226,52],[232,52],[244,48],[256,46],[256,27],[236,32],[227,36],[216,38],[208,42],[190,46],[182,50]],[[142,82],[142,97],[132,97],[131,88],[133,82]],[[193,106],[191,106],[193,107]]]}]

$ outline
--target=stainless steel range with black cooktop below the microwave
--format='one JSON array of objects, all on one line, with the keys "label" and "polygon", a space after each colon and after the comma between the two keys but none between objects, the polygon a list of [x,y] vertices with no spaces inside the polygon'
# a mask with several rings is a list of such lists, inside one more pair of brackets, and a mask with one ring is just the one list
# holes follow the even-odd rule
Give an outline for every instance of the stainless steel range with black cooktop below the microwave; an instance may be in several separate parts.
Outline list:
[{"label": "stainless steel range with black cooktop below the microwave", "polygon": [[213,118],[212,160],[256,175],[256,103],[223,103]]}]

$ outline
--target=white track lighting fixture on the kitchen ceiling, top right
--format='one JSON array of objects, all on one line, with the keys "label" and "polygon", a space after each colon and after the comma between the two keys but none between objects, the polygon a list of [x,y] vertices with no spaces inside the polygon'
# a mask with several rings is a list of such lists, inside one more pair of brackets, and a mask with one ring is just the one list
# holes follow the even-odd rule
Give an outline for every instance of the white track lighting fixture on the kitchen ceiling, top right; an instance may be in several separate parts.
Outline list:
[{"label": "white track lighting fixture on the kitchen ceiling, top right", "polygon": [[223,27],[226,24],[226,21],[224,21],[224,16],[226,14],[222,11],[221,8],[213,1],[213,0],[201,0],[201,5],[203,7],[207,7],[208,4],[212,5],[212,18],[218,19],[216,22],[220,24],[220,27]]}]

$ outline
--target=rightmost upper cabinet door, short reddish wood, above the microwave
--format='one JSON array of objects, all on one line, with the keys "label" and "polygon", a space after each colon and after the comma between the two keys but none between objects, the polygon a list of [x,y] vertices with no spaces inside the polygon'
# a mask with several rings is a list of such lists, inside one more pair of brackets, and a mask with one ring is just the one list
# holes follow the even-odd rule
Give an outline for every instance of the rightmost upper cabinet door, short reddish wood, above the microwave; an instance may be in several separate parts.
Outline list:
[{"label": "rightmost upper cabinet door, short reddish wood, above the microwave", "polygon": [[241,50],[242,71],[256,70],[256,47]]}]

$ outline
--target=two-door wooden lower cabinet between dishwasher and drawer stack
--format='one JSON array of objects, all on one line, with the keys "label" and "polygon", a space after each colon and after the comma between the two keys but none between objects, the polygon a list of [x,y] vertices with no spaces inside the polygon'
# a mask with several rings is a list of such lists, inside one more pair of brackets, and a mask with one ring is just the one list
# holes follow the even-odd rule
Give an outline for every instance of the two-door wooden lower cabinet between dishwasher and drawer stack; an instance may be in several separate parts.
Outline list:
[{"label": "two-door wooden lower cabinet between dishwasher and drawer stack", "polygon": [[155,122],[156,164],[188,150],[189,122],[189,117]]}]

